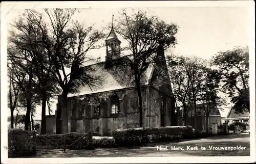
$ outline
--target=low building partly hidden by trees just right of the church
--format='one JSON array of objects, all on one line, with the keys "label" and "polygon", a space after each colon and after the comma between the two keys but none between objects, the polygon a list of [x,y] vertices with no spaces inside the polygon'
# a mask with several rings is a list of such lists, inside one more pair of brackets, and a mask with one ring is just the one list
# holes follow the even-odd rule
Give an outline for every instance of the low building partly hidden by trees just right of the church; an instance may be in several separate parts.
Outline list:
[{"label": "low building partly hidden by trees just right of the church", "polygon": [[[195,127],[195,112],[194,107],[190,107],[188,110],[186,124],[185,124],[185,117],[184,117],[184,110],[182,107],[178,107],[177,110],[177,117],[178,117],[178,125],[191,125],[193,128]],[[221,125],[221,114],[218,109],[215,107],[210,108],[209,111],[209,119],[208,125],[211,127],[212,123],[217,123],[217,126]],[[197,104],[197,129],[205,130],[206,129],[206,113],[204,110],[203,104]]]}]

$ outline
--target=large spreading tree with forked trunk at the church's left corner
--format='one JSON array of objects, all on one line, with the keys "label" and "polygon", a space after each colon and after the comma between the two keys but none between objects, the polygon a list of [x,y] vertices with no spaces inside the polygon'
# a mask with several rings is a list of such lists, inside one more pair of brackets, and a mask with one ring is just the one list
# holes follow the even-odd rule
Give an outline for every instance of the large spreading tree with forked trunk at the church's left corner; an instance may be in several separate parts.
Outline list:
[{"label": "large spreading tree with forked trunk at the church's left corner", "polygon": [[[51,73],[61,88],[59,96],[60,109],[57,109],[57,133],[68,132],[67,96],[76,93],[78,86],[94,87],[97,77],[91,75],[93,70],[86,65],[96,60],[87,56],[91,49],[98,48],[96,42],[103,38],[103,34],[93,30],[93,26],[72,21],[76,9],[46,9],[45,13],[50,24],[42,22],[41,15],[34,14],[33,23],[41,32],[40,43],[46,48],[48,60],[53,65]],[[60,128],[62,126],[62,128]]]}]

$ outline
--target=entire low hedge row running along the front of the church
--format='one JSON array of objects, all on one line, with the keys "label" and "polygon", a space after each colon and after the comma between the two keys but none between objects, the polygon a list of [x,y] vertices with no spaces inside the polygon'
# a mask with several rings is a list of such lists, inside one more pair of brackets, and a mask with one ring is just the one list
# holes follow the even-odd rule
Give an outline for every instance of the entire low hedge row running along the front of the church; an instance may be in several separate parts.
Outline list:
[{"label": "entire low hedge row running along the front of the church", "polygon": [[[181,139],[198,139],[211,136],[204,131],[195,130],[191,126],[167,126],[152,128],[135,129],[117,129],[111,132],[112,138],[93,139],[92,142],[87,139],[78,140],[83,134],[75,132],[66,134],[67,149],[94,149],[94,148],[115,148],[115,147],[133,147],[142,146],[148,143],[169,142]],[[63,149],[64,134],[45,134],[37,136],[38,149]],[[62,140],[60,140],[62,138]],[[48,141],[48,140],[50,141]],[[57,145],[53,144],[57,143]]]}]

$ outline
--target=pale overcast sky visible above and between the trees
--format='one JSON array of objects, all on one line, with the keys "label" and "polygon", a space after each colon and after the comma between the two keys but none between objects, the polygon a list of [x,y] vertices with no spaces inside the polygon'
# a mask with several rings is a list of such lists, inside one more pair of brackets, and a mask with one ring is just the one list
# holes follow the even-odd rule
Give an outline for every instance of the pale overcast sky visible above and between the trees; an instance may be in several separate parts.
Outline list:
[{"label": "pale overcast sky visible above and between the trees", "polygon": [[[11,21],[17,18],[19,6],[14,5],[6,15],[6,20]],[[40,4],[36,8],[40,8]],[[249,45],[248,27],[251,23],[249,15],[251,10],[248,7],[150,7],[141,9],[150,11],[151,14],[159,16],[166,22],[179,25],[178,45],[173,50],[174,53],[209,59],[218,51],[225,51],[234,46]],[[94,27],[100,29],[112,21],[112,14],[118,18],[118,12],[122,9],[92,7],[79,10],[81,12],[75,15],[75,18],[79,21],[84,20],[88,24],[95,23]],[[105,56],[104,52],[105,49],[100,50],[95,56],[102,58]],[[228,110],[221,112],[222,116],[226,117],[227,112]],[[35,119],[40,119],[40,117],[40,107],[38,107]]]}]

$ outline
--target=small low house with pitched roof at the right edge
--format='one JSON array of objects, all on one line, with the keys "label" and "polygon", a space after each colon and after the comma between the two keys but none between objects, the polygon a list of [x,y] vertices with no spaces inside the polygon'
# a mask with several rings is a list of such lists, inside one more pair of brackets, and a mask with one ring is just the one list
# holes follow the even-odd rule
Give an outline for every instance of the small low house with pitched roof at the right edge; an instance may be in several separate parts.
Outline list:
[{"label": "small low house with pitched roof at the right edge", "polygon": [[233,122],[243,122],[246,125],[250,125],[250,113],[248,111],[244,111],[243,113],[236,113],[234,108],[230,108],[227,118],[221,119],[222,123],[231,124]]}]

